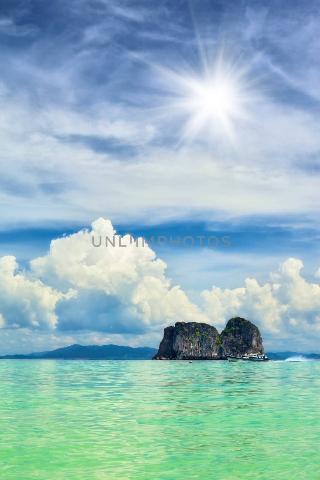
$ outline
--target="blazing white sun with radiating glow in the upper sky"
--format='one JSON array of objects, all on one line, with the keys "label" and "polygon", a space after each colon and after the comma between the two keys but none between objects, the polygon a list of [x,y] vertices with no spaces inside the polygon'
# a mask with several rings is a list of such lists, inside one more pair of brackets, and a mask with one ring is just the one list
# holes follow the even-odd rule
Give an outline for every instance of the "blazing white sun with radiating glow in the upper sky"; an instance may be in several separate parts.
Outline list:
[{"label": "blazing white sun with radiating glow in the upper sky", "polygon": [[216,61],[205,59],[199,71],[189,65],[184,71],[157,68],[160,88],[166,93],[164,116],[182,119],[179,141],[206,136],[235,142],[237,125],[249,118],[248,106],[254,98],[248,70],[221,55]]}]

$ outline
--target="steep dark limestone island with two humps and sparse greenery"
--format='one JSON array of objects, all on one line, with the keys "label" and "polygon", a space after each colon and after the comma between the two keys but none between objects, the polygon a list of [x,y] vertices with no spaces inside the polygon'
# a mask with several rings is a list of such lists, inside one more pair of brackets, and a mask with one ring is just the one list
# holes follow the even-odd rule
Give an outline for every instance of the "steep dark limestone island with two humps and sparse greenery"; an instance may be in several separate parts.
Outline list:
[{"label": "steep dark limestone island with two humps and sparse greenery", "polygon": [[259,328],[240,317],[231,318],[225,329],[209,324],[177,322],[165,328],[153,360],[226,360],[225,353],[263,353]]}]

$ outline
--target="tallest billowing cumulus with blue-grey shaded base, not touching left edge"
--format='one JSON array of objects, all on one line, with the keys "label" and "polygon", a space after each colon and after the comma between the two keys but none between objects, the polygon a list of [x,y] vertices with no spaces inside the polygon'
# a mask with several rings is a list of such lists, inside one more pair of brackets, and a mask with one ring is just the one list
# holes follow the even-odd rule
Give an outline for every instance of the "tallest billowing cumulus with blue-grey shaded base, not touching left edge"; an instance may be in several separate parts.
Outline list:
[{"label": "tallest billowing cumulus with blue-grey shaded base, not touching left edge", "polygon": [[[100,247],[93,246],[93,237],[95,244],[101,237]],[[105,246],[106,237],[114,247]],[[94,325],[101,331],[143,333],[179,320],[208,320],[179,286],[171,287],[165,262],[150,247],[116,235],[103,218],[92,223],[92,231],[52,240],[47,255],[30,265],[44,282],[78,291],[57,305],[62,330]]]}]

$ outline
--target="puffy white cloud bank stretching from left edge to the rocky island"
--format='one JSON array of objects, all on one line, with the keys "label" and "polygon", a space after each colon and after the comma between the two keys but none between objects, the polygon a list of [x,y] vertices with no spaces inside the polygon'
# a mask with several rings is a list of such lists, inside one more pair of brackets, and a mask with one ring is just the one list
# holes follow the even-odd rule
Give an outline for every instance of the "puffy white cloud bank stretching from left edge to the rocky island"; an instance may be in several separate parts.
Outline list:
[{"label": "puffy white cloud bank stretching from left edge to the rocky island", "polygon": [[[92,237],[103,244],[96,248]],[[104,246],[105,237],[115,247]],[[125,247],[119,246],[119,240]],[[130,244],[99,218],[92,231],[51,241],[49,252],[19,271],[13,256],[0,259],[0,313],[6,328],[97,331],[144,335],[176,321],[208,321],[146,244]]]}]

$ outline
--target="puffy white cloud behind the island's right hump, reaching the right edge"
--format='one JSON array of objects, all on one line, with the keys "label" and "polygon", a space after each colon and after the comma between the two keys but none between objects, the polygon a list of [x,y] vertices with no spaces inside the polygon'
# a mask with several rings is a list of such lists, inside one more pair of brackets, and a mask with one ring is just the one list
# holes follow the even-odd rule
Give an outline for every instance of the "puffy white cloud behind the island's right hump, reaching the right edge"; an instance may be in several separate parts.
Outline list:
[{"label": "puffy white cloud behind the island's right hump, reaching the right edge", "polygon": [[288,258],[280,264],[278,273],[270,275],[272,282],[263,286],[254,278],[246,278],[241,288],[222,290],[213,286],[201,294],[205,311],[219,326],[230,317],[243,316],[273,344],[289,340],[300,348],[308,343],[316,347],[320,337],[320,285],[308,283],[300,275],[302,268],[301,260]]}]

